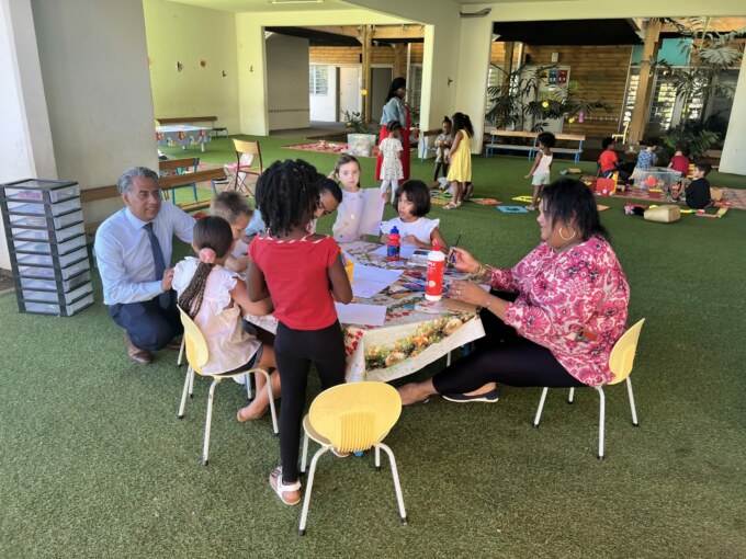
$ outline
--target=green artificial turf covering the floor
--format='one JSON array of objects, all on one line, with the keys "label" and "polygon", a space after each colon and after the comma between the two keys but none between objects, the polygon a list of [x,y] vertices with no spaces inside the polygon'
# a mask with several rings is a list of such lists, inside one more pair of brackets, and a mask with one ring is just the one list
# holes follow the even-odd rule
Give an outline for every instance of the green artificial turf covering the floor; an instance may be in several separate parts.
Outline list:
[{"label": "green artificial turf covering the floor", "polygon": [[[265,163],[334,166],[334,156],[281,148],[296,142],[261,138]],[[201,157],[229,160],[227,140]],[[530,194],[525,159],[473,161],[475,195],[509,204]],[[373,167],[363,160],[364,186],[375,185]],[[554,173],[565,167],[575,164],[558,160]],[[431,172],[431,161],[412,162],[415,178]],[[746,186],[743,176],[712,179]],[[623,215],[625,202],[604,198],[602,221],[631,286],[630,322],[647,319],[632,374],[641,426],[630,423],[623,386],[607,389],[603,461],[592,390],[573,406],[551,391],[538,430],[540,389],[505,388],[496,404],[433,398],[407,408],[386,440],[407,526],[385,457],[375,472],[370,454],[325,455],[297,537],[299,507],[282,505],[267,481],[279,460],[270,420],[237,423],[245,393],[233,383],[218,387],[202,467],[208,383],[195,381],[177,420],[185,370],[176,352],[150,367],[131,363],[98,277],[97,304],[72,318],[20,315],[14,295],[0,297],[0,557],[746,556],[746,213],[660,225]],[[539,241],[535,214],[465,204],[430,217],[495,265]]]}]

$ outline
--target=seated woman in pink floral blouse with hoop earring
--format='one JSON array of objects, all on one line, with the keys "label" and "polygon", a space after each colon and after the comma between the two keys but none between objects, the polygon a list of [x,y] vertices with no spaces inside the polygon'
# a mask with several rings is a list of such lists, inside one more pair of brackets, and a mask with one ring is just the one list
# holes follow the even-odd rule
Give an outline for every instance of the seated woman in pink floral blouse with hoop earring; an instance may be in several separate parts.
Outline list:
[{"label": "seated woman in pink floral blouse with hoop earring", "polygon": [[431,380],[399,388],[405,404],[440,393],[495,402],[509,386],[598,386],[612,378],[611,349],[626,329],[630,287],[581,182],[544,187],[536,219],[542,242],[512,269],[482,264],[454,249],[455,266],[490,292],[453,282],[449,296],[482,307],[485,338]]}]

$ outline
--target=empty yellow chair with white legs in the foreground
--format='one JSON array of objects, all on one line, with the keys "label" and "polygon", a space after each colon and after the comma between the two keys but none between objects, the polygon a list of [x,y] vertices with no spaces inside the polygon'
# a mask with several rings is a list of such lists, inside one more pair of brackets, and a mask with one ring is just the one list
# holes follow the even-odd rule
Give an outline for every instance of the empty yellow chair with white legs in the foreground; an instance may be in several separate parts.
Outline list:
[{"label": "empty yellow chair with white legs in the foreground", "polygon": [[303,459],[301,471],[306,471],[308,457],[308,438],[316,441],[321,447],[310,460],[308,483],[303,500],[303,513],[298,534],[306,532],[310,491],[314,487],[314,474],[318,459],[328,450],[352,453],[375,448],[375,469],[381,470],[381,449],[388,455],[394,478],[394,489],[399,506],[402,524],[407,524],[404,499],[396,469],[394,453],[382,443],[402,413],[402,398],[392,386],[385,383],[351,383],[338,385],[325,390],[310,404],[308,414],[303,420],[305,436],[303,438]]}]

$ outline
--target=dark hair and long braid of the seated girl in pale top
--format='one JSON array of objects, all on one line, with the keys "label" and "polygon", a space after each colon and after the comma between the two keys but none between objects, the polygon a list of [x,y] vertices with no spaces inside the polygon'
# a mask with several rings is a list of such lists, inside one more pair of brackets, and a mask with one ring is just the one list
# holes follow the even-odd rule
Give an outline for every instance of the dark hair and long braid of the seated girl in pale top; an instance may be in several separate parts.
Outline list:
[{"label": "dark hair and long braid of the seated girl in pale top", "polygon": [[200,263],[184,293],[179,297],[179,307],[192,320],[200,312],[207,276],[215,267],[215,259],[225,256],[233,246],[233,230],[222,217],[203,217],[194,226],[194,246],[199,249]]}]

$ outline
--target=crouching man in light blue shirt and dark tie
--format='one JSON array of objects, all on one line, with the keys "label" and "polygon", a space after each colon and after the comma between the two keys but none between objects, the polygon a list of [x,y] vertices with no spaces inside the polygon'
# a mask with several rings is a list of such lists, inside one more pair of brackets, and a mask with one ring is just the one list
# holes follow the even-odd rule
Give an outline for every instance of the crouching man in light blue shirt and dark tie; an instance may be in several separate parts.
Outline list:
[{"label": "crouching man in light blue shirt and dark tie", "polygon": [[173,235],[192,242],[194,218],[161,202],[158,175],[134,167],[120,176],[126,207],[110,216],[95,233],[94,251],[103,301],[124,329],[127,355],[152,363],[150,352],[166,347],[183,329],[171,290]]}]

